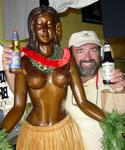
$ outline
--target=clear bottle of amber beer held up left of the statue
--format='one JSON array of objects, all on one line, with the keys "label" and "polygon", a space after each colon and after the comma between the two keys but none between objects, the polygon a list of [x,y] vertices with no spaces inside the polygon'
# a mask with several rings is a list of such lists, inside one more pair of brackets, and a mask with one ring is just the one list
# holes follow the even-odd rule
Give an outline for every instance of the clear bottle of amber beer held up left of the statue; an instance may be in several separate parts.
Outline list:
[{"label": "clear bottle of amber beer held up left of the statue", "polygon": [[21,52],[19,46],[19,34],[17,30],[12,33],[12,60],[9,65],[9,71],[11,73],[21,72]]}]

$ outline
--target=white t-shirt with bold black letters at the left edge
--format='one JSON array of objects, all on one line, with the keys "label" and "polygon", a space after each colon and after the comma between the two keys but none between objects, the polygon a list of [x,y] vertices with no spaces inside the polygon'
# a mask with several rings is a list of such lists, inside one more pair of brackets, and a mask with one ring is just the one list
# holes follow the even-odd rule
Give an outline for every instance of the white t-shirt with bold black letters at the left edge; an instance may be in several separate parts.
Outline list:
[{"label": "white t-shirt with bold black letters at the left edge", "polygon": [[6,113],[12,108],[14,102],[13,93],[7,84],[2,66],[2,53],[3,47],[0,45],[0,120],[2,120]]}]

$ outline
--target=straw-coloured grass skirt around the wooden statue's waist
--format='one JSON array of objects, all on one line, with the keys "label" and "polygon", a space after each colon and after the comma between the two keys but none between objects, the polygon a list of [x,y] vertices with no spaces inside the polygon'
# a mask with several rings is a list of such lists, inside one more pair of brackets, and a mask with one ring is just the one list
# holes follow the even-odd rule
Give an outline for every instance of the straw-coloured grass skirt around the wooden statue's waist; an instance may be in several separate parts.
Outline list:
[{"label": "straw-coloured grass skirt around the wooden statue's waist", "polygon": [[24,122],[16,150],[84,150],[80,131],[68,115],[50,127],[32,126]]}]

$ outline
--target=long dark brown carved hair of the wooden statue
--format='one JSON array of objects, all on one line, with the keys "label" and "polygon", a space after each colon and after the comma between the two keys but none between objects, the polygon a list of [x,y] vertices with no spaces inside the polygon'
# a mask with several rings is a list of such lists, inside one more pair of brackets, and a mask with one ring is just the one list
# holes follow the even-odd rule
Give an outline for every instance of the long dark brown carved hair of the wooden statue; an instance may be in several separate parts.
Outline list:
[{"label": "long dark brown carved hair of the wooden statue", "polygon": [[[52,7],[42,5],[41,7],[37,7],[35,9],[33,9],[28,16],[29,40],[28,40],[28,44],[27,44],[27,47],[32,49],[32,50],[37,51],[38,45],[39,45],[39,42],[37,41],[35,31],[34,31],[34,21],[35,21],[37,16],[39,16],[40,14],[42,14],[44,12],[48,12],[48,13],[52,14],[52,17],[53,17],[53,20],[55,23],[55,30],[56,30],[56,24],[58,22],[60,22],[59,14]],[[54,44],[59,45],[59,39],[58,39],[57,35],[54,39]]]}]

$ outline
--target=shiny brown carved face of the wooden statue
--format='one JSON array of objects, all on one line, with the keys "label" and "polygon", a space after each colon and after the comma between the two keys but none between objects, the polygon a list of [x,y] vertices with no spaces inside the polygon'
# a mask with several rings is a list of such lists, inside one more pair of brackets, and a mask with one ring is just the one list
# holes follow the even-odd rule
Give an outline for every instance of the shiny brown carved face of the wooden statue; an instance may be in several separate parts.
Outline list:
[{"label": "shiny brown carved face of the wooden statue", "polygon": [[41,44],[50,44],[56,36],[56,25],[52,14],[45,12],[37,16],[34,22],[34,30],[37,40]]}]

